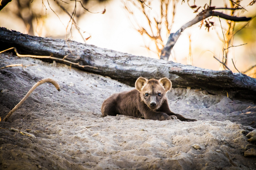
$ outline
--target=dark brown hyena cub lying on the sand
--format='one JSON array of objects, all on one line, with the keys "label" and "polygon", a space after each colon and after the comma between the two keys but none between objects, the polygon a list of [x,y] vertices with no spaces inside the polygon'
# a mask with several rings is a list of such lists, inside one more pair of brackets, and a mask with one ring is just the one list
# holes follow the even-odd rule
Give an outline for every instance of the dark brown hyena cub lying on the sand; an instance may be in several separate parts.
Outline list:
[{"label": "dark brown hyena cub lying on the sand", "polygon": [[196,121],[196,119],[187,119],[170,111],[165,96],[166,92],[172,88],[172,82],[168,78],[147,80],[139,77],[135,88],[129,92],[112,94],[102,104],[102,115],[105,117],[123,114],[152,120]]}]

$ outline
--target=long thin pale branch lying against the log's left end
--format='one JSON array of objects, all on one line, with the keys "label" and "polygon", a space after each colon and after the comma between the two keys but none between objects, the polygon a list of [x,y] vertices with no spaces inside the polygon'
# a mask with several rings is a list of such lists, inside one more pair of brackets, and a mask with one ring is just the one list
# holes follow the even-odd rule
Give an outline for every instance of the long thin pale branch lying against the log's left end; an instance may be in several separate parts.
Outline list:
[{"label": "long thin pale branch lying against the log's left end", "polygon": [[[89,65],[79,65],[79,62],[78,63],[74,63],[74,62],[71,62],[71,61],[68,61],[68,60],[64,60],[68,55],[66,55],[64,58],[60,59],[60,58],[55,58],[55,57],[52,57],[52,56],[35,56],[35,55],[22,55],[22,54],[19,54],[17,49],[15,47],[11,47],[9,49],[6,49],[6,50],[3,50],[3,51],[0,51],[0,54],[5,52],[5,51],[8,51],[8,50],[12,50],[14,49],[16,55],[18,57],[32,57],[32,58],[50,58],[50,59],[53,59],[53,60],[61,60],[61,61],[64,61],[64,62],[67,62],[67,63],[70,63],[70,67],[71,67],[71,64],[73,65],[77,65],[79,67],[90,67],[90,68],[94,68],[94,69],[98,69],[97,67],[93,67],[93,66],[89,66]],[[11,67],[11,66],[9,66]]]}]

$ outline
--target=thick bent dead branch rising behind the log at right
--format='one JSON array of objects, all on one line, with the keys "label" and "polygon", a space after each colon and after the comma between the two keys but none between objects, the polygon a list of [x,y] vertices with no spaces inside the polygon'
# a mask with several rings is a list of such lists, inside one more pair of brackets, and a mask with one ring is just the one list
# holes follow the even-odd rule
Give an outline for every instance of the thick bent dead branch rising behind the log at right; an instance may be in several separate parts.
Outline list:
[{"label": "thick bent dead branch rising behind the log at right", "polygon": [[178,38],[180,37],[181,33],[188,27],[191,27],[192,25],[202,21],[203,19],[206,19],[208,17],[215,16],[215,17],[220,17],[223,19],[235,21],[235,22],[242,22],[242,21],[249,21],[251,17],[235,17],[235,16],[230,16],[223,14],[222,12],[217,12],[213,10],[203,10],[200,12],[194,19],[189,21],[187,24],[184,24],[176,33],[171,33],[170,36],[168,37],[168,41],[164,48],[161,51],[161,56],[160,59],[163,60],[168,60],[171,54],[171,50],[173,49],[173,46],[177,42]]}]

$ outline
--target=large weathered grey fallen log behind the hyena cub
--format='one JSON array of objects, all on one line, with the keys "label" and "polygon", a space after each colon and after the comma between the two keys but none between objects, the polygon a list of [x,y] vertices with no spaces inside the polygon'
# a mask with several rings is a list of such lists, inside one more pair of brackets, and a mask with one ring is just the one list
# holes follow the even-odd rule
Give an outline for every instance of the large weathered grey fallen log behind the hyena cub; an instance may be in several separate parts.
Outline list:
[{"label": "large weathered grey fallen log behind the hyena cub", "polygon": [[[212,94],[227,95],[228,92],[229,97],[256,100],[256,79],[241,73],[202,69],[172,61],[133,56],[71,40],[30,36],[0,28],[0,50],[10,47],[17,48],[20,54],[51,55],[61,59],[65,57],[65,60],[78,62],[79,65],[97,67],[72,65],[132,86],[140,76],[156,79],[167,77],[173,82],[173,87],[201,88]],[[65,63],[60,60],[57,62]]]}]

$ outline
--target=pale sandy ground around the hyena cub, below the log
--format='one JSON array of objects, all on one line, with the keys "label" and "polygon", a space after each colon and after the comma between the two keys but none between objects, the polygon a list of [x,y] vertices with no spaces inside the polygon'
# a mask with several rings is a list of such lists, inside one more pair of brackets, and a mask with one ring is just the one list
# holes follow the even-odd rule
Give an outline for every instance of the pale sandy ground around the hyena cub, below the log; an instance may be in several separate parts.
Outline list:
[{"label": "pale sandy ground around the hyena cub, below the log", "polygon": [[[0,117],[40,85],[0,122],[0,169],[255,169],[256,157],[244,157],[246,134],[256,128],[253,101],[174,88],[173,112],[196,122],[153,121],[118,115],[101,117],[101,104],[112,93],[130,90],[108,77],[63,64],[0,55]],[[90,127],[91,126],[91,127]],[[36,137],[13,132],[29,132]],[[198,144],[201,149],[193,148]]]}]

